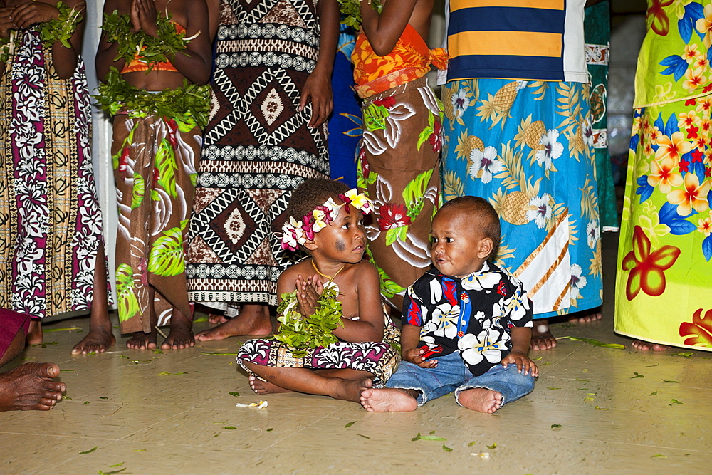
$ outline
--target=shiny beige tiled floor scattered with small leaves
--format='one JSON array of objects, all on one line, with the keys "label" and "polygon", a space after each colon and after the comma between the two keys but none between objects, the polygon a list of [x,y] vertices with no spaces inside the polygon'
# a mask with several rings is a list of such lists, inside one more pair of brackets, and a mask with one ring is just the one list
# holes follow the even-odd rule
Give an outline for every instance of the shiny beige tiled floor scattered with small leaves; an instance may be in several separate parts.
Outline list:
[{"label": "shiny beige tiled floor scattered with small leaves", "polygon": [[[603,320],[553,325],[555,335],[629,346],[612,332],[616,239],[604,238]],[[46,328],[73,326],[87,330],[88,319]],[[152,353],[127,350],[121,338],[108,353],[72,357],[80,336],[46,333],[46,348],[22,355],[57,362],[71,399],[50,412],[0,413],[1,474],[712,471],[712,353],[560,340],[531,354],[540,365],[534,392],[496,414],[470,412],[452,397],[416,412],[372,414],[295,394],[267,396],[268,409],[235,407],[261,397],[233,356],[206,354],[235,353],[235,339]],[[431,432],[446,440],[412,441]]]}]

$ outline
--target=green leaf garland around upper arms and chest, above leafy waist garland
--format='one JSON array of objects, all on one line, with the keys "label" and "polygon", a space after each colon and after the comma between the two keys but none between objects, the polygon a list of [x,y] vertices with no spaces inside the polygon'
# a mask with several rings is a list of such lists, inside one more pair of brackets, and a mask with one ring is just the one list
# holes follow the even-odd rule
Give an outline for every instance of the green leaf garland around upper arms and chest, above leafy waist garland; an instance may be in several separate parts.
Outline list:
[{"label": "green leaf garland around upper arms and chest, above leafy waist garland", "polygon": [[143,30],[136,33],[131,31],[133,25],[130,16],[120,15],[116,10],[112,14],[104,14],[104,24],[101,28],[105,41],[118,45],[114,61],[121,58],[132,61],[135,56],[140,55],[142,60],[148,64],[148,71],[152,70],[155,63],[172,60],[176,53],[186,49],[189,41],[185,38],[184,31],[181,33],[176,31],[169,13],[167,16],[161,16],[161,14],[157,16],[157,38]]}]

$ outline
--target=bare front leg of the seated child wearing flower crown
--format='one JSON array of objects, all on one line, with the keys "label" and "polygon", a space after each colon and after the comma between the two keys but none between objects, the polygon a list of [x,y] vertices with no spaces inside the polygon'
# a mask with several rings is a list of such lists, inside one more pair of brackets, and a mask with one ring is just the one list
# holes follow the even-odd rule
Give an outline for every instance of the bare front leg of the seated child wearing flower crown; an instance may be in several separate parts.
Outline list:
[{"label": "bare front leg of the seated child wearing flower crown", "polygon": [[[325,395],[345,401],[360,401],[361,391],[371,387],[370,377],[345,380],[341,377],[323,377],[303,367],[269,367],[244,362],[245,366],[273,385],[286,390],[310,395]],[[370,373],[363,372],[365,375]]]}]

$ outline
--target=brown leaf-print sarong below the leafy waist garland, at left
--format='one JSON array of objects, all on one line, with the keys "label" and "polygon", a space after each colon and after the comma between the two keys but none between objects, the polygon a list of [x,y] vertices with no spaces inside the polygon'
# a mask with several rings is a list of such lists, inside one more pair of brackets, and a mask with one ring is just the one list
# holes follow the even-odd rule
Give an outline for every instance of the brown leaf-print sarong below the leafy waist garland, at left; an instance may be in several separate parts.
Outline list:
[{"label": "brown leaf-print sarong below the leafy waist garland, at left", "polygon": [[[179,128],[180,127],[180,128]],[[149,333],[150,289],[158,325],[172,308],[191,316],[184,243],[201,130],[154,116],[116,115],[111,154],[119,203],[116,293],[122,333]]]}]

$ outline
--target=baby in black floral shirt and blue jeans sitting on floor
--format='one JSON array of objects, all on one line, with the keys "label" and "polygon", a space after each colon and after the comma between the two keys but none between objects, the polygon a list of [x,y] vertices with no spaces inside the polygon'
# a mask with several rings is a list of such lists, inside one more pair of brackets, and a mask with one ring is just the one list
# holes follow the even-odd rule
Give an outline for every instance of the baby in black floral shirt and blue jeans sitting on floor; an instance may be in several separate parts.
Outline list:
[{"label": "baby in black floral shirt and blue jeans sitting on floor", "polygon": [[439,209],[435,268],[403,303],[403,362],[386,389],[361,392],[365,409],[412,411],[454,392],[461,406],[491,414],[534,389],[531,303],[517,278],[487,262],[499,239],[499,217],[486,200],[459,197]]}]

